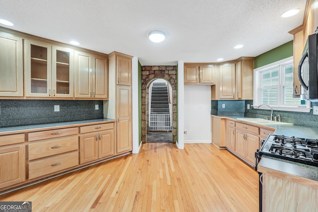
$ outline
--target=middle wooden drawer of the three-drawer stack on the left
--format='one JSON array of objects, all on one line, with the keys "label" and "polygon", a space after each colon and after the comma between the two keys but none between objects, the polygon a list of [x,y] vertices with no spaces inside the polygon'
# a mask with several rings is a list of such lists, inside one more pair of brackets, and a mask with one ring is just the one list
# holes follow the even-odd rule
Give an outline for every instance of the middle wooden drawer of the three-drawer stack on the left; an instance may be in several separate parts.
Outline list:
[{"label": "middle wooden drawer of the three-drawer stack on the left", "polygon": [[78,136],[29,143],[29,160],[79,149]]}]

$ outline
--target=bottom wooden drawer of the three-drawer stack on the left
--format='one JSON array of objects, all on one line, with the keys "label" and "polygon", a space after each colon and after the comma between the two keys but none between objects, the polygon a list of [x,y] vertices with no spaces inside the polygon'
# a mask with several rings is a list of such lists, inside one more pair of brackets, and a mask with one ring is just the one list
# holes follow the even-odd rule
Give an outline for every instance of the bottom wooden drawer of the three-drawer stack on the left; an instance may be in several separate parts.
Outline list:
[{"label": "bottom wooden drawer of the three-drawer stack on the left", "polygon": [[60,154],[29,163],[29,179],[79,165],[79,152]]}]

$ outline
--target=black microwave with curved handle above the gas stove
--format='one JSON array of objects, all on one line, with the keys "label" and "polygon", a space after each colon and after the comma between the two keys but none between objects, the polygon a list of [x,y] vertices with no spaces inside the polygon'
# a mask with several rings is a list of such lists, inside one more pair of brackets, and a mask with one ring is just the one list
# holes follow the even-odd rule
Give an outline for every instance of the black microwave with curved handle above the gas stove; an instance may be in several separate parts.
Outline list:
[{"label": "black microwave with curved handle above the gas stove", "polygon": [[297,75],[304,99],[318,99],[318,34],[308,36]]}]

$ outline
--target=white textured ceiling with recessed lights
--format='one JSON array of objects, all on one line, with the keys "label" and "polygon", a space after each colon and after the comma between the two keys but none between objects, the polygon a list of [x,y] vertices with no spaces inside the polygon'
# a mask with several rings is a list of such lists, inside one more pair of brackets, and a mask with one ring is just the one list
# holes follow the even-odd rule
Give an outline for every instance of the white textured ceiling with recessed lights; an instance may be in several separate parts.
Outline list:
[{"label": "white textured ceiling with recessed lights", "polygon": [[[137,56],[142,66],[176,65],[258,56],[293,40],[288,31],[303,23],[305,7],[306,0],[0,0],[0,18],[14,23],[0,26]],[[280,17],[292,8],[300,12]],[[166,39],[152,43],[153,30]]]}]

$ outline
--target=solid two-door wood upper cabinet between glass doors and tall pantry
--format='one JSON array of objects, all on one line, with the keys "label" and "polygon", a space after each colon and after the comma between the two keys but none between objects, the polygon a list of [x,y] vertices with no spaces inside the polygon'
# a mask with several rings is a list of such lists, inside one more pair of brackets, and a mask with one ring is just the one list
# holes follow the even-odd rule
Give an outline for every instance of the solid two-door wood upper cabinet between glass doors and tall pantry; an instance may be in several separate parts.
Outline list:
[{"label": "solid two-door wood upper cabinet between glass doors and tall pantry", "polygon": [[108,98],[107,57],[75,53],[75,97]]}]

